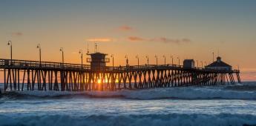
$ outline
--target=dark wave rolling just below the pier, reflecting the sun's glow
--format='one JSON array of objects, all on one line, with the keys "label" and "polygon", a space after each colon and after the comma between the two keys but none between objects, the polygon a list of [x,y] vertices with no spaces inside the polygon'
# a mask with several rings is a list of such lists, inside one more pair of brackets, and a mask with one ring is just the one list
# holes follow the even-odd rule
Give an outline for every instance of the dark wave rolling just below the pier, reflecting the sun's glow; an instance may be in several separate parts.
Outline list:
[{"label": "dark wave rolling just below the pier, reflecting the sun's glow", "polygon": [[[230,90],[237,87],[168,87],[145,90],[117,91],[17,91],[22,96],[51,97],[81,97],[84,98],[124,98],[124,99],[256,99],[255,90]],[[14,95],[17,96],[17,95]]]}]

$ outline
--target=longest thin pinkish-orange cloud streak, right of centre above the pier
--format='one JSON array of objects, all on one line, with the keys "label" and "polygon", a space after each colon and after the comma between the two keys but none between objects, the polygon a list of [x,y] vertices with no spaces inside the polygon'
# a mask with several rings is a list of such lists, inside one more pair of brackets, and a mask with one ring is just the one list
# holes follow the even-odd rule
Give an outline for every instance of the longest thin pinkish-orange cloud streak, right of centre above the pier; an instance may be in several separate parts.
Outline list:
[{"label": "longest thin pinkish-orange cloud streak, right of centre above the pier", "polygon": [[174,44],[191,42],[190,39],[168,39],[165,37],[154,38],[154,39],[145,39],[145,38],[138,37],[138,36],[129,36],[128,40],[131,42],[163,42],[163,43],[174,43]]}]

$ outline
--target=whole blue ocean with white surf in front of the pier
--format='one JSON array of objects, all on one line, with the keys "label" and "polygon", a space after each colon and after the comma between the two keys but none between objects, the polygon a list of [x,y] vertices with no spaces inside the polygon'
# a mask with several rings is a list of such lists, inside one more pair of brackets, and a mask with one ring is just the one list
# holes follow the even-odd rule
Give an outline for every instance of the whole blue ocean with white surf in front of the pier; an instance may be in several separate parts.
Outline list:
[{"label": "whole blue ocean with white surf in front of the pier", "polygon": [[256,82],[116,92],[16,91],[0,125],[256,125]]}]

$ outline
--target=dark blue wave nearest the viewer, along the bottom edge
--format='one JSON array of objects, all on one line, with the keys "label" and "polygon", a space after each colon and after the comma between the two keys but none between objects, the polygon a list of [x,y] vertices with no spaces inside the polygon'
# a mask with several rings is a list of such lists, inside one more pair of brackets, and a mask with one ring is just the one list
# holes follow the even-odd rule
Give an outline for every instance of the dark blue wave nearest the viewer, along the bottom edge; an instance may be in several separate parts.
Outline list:
[{"label": "dark blue wave nearest the viewer, along the bottom edge", "polygon": [[206,114],[149,114],[149,115],[42,115],[42,116],[6,116],[0,115],[0,125],[119,125],[119,126],[165,126],[165,125],[256,125],[256,116],[220,113]]}]

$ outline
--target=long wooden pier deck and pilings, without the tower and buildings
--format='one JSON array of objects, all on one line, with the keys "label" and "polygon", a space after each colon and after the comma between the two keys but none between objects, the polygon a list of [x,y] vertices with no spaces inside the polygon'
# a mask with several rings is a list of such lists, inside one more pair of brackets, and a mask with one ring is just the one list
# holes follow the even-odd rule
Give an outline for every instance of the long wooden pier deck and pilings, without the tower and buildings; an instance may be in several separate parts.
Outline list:
[{"label": "long wooden pier deck and pilings, without the tower and buildings", "polygon": [[[97,70],[91,65],[0,59],[4,91],[121,90],[192,85],[235,84],[239,70],[185,68],[181,65],[136,65]],[[3,73],[3,74],[2,74]]]}]

